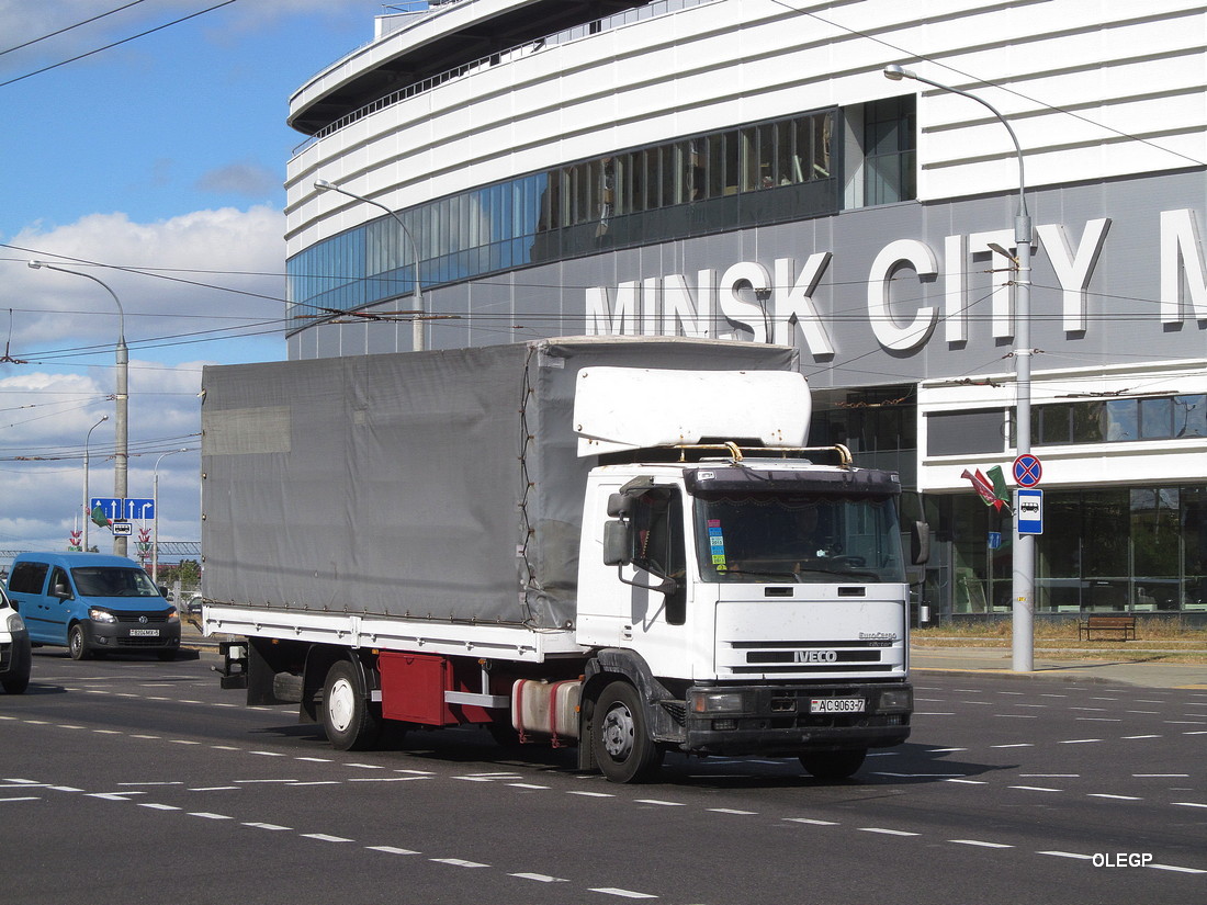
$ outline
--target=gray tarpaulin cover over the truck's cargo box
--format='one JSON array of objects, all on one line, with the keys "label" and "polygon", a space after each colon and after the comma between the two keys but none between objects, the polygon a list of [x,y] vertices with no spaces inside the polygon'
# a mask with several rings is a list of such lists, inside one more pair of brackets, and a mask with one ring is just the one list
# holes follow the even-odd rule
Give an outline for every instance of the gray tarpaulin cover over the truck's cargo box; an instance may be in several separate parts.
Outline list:
[{"label": "gray tarpaulin cover over the truck's cargo box", "polygon": [[[584,367],[792,370],[783,346],[588,337],[208,367],[209,600],[562,627],[575,620]],[[635,398],[634,405],[641,399]]]}]

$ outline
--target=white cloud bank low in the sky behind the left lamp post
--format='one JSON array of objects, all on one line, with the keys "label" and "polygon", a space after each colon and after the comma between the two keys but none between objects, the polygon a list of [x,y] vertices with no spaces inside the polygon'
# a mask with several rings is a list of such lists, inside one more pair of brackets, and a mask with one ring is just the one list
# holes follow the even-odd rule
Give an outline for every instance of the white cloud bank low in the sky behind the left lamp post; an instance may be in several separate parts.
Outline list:
[{"label": "white cloud bank low in the sky behind the left lamp post", "polygon": [[[91,436],[91,495],[112,496],[113,487],[117,306],[93,280],[33,270],[23,258],[59,262],[100,279],[117,293],[130,345],[129,496],[152,496],[159,461],[159,536],[197,541],[202,367],[282,358],[285,344],[280,333],[206,344],[187,343],[188,334],[215,329],[238,334],[249,323],[280,323],[285,313],[279,275],[282,224],[280,211],[268,206],[194,211],[154,223],[97,214],[52,230],[27,229],[10,241],[35,251],[10,249],[7,259],[0,262],[0,335],[7,335],[2,309],[8,308],[10,357],[29,362],[0,363],[0,480],[5,487],[0,549],[65,547],[82,515],[84,439],[106,414],[109,421]],[[193,451],[159,459],[186,446]],[[93,529],[89,539],[103,550],[111,549],[105,530]]]}]

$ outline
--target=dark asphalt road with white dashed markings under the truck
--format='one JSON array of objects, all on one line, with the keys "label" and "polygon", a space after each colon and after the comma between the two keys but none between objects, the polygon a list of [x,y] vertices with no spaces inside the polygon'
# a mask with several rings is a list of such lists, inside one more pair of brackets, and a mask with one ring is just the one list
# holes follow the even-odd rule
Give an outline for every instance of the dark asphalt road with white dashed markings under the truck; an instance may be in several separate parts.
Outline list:
[{"label": "dark asphalt road with white dashed markings under the truck", "polygon": [[480,730],[332,751],[192,661],[35,652],[0,695],[0,903],[1189,903],[1207,690],[915,676],[841,783],[669,757],[613,786]]}]

